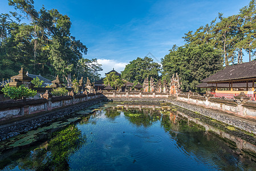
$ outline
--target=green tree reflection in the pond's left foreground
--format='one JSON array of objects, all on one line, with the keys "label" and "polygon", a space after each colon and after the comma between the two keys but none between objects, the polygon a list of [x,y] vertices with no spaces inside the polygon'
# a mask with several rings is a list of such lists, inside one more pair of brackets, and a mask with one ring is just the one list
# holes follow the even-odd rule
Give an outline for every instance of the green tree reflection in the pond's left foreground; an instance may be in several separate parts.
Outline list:
[{"label": "green tree reflection in the pond's left foreground", "polygon": [[31,155],[19,160],[19,168],[26,170],[68,170],[71,154],[85,143],[85,137],[75,126],[54,133],[49,143],[34,149]]}]

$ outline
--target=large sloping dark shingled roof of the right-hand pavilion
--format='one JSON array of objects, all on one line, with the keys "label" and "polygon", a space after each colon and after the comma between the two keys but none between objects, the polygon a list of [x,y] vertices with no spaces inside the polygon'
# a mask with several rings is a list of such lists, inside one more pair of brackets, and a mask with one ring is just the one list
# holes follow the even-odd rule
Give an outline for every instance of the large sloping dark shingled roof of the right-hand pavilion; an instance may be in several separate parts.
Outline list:
[{"label": "large sloping dark shingled roof of the right-hand pavilion", "polygon": [[256,60],[242,64],[235,64],[234,66],[228,66],[224,68],[224,70],[221,70],[216,74],[201,80],[201,82],[223,82],[229,80],[253,78],[256,79]]}]

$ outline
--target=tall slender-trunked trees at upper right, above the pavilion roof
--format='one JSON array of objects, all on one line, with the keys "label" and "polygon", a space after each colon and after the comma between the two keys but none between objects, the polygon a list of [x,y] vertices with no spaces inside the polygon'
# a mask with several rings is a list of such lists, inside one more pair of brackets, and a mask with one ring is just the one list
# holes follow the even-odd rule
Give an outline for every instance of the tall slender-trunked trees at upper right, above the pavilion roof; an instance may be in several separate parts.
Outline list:
[{"label": "tall slender-trunked trees at upper right, above the pavilion roof", "polygon": [[225,66],[242,63],[243,50],[248,53],[250,62],[256,49],[255,14],[256,1],[251,0],[248,6],[240,9],[239,14],[224,17],[219,13],[210,25],[189,31],[183,38],[190,45],[207,44],[220,50]]}]

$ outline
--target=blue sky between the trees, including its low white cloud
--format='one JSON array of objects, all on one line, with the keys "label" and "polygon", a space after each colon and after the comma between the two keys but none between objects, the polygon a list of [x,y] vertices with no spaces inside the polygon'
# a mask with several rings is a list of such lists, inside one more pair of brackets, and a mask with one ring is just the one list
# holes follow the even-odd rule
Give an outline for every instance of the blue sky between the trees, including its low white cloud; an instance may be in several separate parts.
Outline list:
[{"label": "blue sky between the trees, including its low white cloud", "polygon": [[[249,0],[160,0],[160,1],[80,1],[34,0],[35,9],[57,9],[71,18],[71,34],[87,47],[84,58],[97,58],[103,65],[101,76],[112,70],[123,71],[126,64],[149,52],[160,61],[173,44],[182,46],[182,36],[224,16],[238,14]],[[13,10],[0,1],[1,13]],[[149,55],[152,57],[151,55]],[[244,62],[249,59],[244,57]],[[155,60],[155,62],[157,62]]]}]

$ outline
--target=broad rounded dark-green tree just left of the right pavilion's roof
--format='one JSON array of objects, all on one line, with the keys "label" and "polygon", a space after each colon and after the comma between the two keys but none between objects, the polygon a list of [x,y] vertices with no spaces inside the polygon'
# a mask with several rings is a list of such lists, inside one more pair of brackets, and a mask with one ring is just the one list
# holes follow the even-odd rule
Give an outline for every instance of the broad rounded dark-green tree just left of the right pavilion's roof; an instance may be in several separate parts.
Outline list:
[{"label": "broad rounded dark-green tree just left of the right pavilion's roof", "polygon": [[162,78],[170,80],[177,73],[183,91],[200,92],[196,87],[200,81],[223,68],[221,52],[206,44],[174,46],[161,63]]}]

